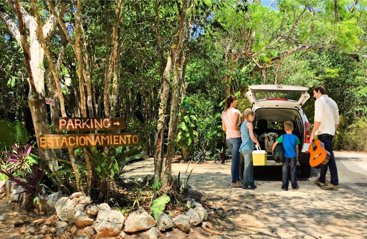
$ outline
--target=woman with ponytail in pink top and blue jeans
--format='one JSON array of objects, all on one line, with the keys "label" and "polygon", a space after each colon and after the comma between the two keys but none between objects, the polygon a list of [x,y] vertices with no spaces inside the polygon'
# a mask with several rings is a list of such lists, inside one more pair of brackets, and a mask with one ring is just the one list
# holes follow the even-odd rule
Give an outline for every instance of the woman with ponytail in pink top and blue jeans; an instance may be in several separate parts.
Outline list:
[{"label": "woman with ponytail in pink top and blue jeans", "polygon": [[222,112],[222,128],[226,132],[226,141],[229,150],[232,153],[232,183],[231,187],[240,188],[242,187],[240,181],[240,152],[239,148],[242,143],[241,132],[240,132],[240,111],[236,109],[237,99],[236,96],[230,95],[226,99],[226,110]]}]

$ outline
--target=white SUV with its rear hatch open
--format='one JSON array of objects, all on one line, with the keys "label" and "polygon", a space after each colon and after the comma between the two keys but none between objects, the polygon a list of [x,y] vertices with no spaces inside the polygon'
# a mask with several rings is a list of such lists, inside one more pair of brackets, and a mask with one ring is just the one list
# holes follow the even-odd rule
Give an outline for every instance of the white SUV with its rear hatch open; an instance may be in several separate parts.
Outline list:
[{"label": "white SUV with its rear hatch open", "polygon": [[[277,133],[278,137],[285,134],[283,123],[287,120],[293,122],[293,134],[301,142],[299,145],[298,168],[301,168],[301,176],[309,177],[311,166],[309,164],[310,154],[310,132],[307,130],[308,119],[304,113],[303,106],[310,98],[308,87],[294,85],[250,85],[246,93],[251,102],[252,110],[255,112],[254,133],[261,136],[263,133]],[[277,97],[276,95],[280,95]],[[287,96],[293,96],[289,99]],[[271,122],[271,123],[270,123]],[[261,149],[265,149],[264,141],[259,141]],[[266,166],[281,165],[273,160],[273,155],[268,152]]]}]

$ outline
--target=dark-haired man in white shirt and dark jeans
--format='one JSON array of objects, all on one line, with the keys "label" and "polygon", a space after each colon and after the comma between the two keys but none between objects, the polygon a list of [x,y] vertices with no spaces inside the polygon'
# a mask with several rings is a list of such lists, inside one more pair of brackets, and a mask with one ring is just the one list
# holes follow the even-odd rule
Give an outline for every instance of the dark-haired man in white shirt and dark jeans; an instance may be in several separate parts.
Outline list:
[{"label": "dark-haired man in white shirt and dark jeans", "polygon": [[[321,168],[319,180],[314,183],[325,190],[337,190],[339,188],[338,169],[335,163],[332,143],[334,142],[335,131],[339,125],[339,109],[337,103],[326,95],[326,90],[322,85],[312,88],[315,101],[315,125],[310,136],[310,141],[317,138],[325,144],[325,149],[330,152],[329,162]],[[331,181],[325,185],[327,168],[330,169]]]}]

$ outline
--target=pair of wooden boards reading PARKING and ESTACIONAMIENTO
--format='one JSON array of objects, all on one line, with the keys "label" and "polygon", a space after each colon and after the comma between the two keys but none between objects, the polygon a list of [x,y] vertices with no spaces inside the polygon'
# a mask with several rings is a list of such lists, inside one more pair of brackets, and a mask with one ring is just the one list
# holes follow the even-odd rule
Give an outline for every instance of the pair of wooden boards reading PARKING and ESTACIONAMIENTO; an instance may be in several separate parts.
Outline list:
[{"label": "pair of wooden boards reading PARKING and ESTACIONAMIENTO", "polygon": [[[57,131],[125,129],[124,117],[119,118],[55,118]],[[40,135],[40,148],[90,148],[134,146],[136,133],[101,133],[75,135]]]}]

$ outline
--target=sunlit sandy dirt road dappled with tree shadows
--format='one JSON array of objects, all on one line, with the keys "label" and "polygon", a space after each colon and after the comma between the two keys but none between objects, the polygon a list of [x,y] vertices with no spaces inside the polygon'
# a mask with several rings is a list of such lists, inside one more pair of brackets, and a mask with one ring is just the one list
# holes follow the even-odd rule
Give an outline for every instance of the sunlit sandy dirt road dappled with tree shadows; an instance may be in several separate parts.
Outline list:
[{"label": "sunlit sandy dirt road dappled with tree shadows", "polygon": [[[172,172],[195,167],[189,184],[208,195],[212,233],[201,236],[226,238],[367,238],[367,154],[335,152],[339,173],[338,191],[325,191],[309,178],[298,178],[299,190],[283,191],[281,169],[265,168],[255,174],[256,190],[230,188],[230,162],[221,164],[173,163]],[[146,165],[127,176],[153,174],[153,160],[128,165]],[[330,180],[330,173],[327,175]],[[223,236],[224,234],[226,236]],[[197,235],[197,234],[196,234]],[[228,238],[228,237],[227,237]]]}]

